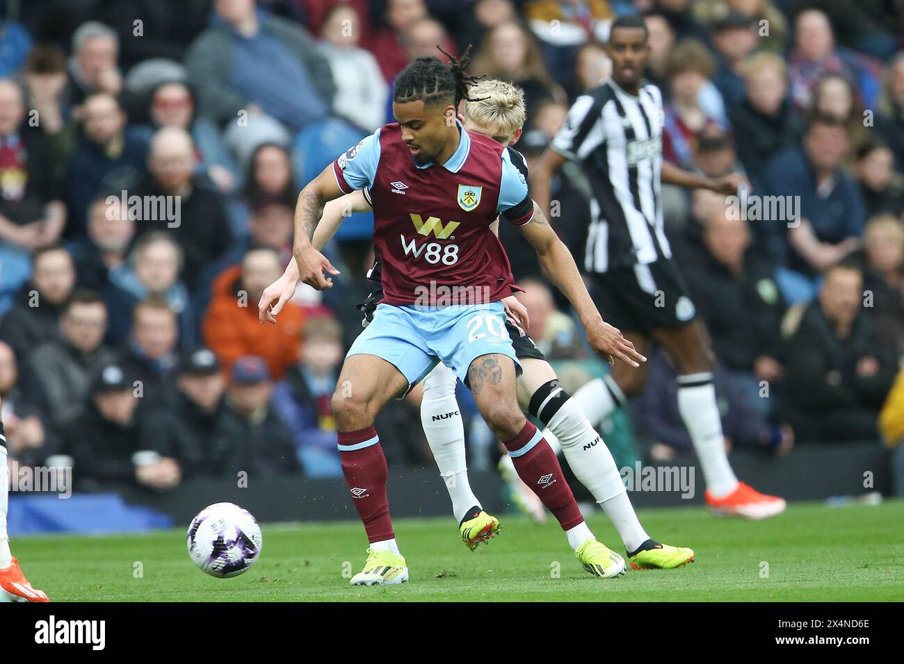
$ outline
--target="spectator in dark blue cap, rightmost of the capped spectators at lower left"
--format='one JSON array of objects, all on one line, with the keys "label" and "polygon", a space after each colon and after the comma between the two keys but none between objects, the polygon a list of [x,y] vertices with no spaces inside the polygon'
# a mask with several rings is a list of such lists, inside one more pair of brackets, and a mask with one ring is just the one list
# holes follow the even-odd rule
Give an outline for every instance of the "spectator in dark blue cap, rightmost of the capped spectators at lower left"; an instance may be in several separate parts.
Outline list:
[{"label": "spectator in dark blue cap, rightmost of the capped spectators at lower left", "polygon": [[273,381],[267,363],[253,355],[242,357],[232,364],[231,376],[227,404],[241,427],[233,472],[248,472],[252,481],[258,474],[300,474],[292,431],[270,403]]}]

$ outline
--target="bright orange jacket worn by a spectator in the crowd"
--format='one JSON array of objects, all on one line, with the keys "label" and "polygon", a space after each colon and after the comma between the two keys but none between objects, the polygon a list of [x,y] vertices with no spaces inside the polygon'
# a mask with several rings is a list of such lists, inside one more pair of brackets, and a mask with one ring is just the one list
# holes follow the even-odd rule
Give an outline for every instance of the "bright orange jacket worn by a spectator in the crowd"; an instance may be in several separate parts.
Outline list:
[{"label": "bright orange jacket worn by a spectator in the crowd", "polygon": [[243,355],[266,360],[270,378],[280,380],[298,361],[298,335],[305,313],[297,304],[287,303],[277,323],[258,322],[258,303],[240,306],[241,267],[223,271],[213,281],[211,304],[202,323],[204,344],[220,359],[229,373],[232,363]]}]

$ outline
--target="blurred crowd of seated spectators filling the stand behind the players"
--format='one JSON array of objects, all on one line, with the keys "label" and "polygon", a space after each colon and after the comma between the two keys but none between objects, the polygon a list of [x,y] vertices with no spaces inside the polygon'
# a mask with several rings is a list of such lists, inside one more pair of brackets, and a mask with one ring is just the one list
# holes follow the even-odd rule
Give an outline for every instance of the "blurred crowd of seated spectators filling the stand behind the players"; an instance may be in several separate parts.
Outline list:
[{"label": "blurred crowd of seated spectators filling the stand behind the players", "polygon": [[[437,45],[525,93],[528,164],[605,79],[616,15],[642,14],[664,157],[743,173],[796,212],[664,187],[666,225],[718,358],[726,444],[888,444],[904,475],[904,22],[852,0],[0,2],[0,397],[11,463],[85,488],[241,470],[341,475],[330,396],[361,330],[370,215],[327,248],[342,275],[261,325],[297,192],[391,122],[393,79]],[[588,185],[552,182],[583,256]],[[758,201],[764,201],[759,198]],[[742,201],[742,204],[744,201]],[[794,223],[788,223],[788,221]],[[513,229],[530,332],[576,388],[605,371]],[[602,312],[604,318],[606,312]],[[638,446],[689,449],[674,369],[650,358]],[[476,415],[466,390],[461,404]],[[476,418],[479,420],[479,418]],[[390,464],[428,464],[417,410],[384,409]],[[479,421],[471,454],[494,444]],[[491,463],[487,461],[486,463]],[[472,467],[480,467],[475,461]],[[899,481],[904,484],[904,480]],[[899,485],[904,492],[904,486]]]}]

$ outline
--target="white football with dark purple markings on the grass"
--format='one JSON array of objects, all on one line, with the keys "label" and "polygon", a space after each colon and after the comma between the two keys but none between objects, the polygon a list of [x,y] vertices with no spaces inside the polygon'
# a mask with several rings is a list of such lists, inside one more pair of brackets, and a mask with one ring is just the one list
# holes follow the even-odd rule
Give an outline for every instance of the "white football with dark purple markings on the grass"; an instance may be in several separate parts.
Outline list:
[{"label": "white football with dark purple markings on the grass", "polygon": [[194,564],[219,578],[247,572],[264,544],[258,521],[231,502],[217,502],[201,510],[188,527],[187,541]]}]

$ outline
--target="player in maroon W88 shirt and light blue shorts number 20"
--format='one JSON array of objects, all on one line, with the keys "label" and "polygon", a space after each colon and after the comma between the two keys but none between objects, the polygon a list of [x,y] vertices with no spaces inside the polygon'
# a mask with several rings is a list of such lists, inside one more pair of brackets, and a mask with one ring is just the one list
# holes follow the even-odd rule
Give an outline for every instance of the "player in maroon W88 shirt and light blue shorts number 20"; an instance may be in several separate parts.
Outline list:
[{"label": "player in maroon W88 shirt and light blue shorts number 20", "polygon": [[[391,585],[408,580],[386,500],[386,459],[373,428],[390,398],[406,394],[438,361],[455,370],[476,406],[513,456],[516,470],[559,520],[570,547],[593,575],[624,573],[625,561],[590,532],[561,469],[528,422],[515,394],[515,359],[500,302],[511,293],[504,255],[490,229],[496,216],[522,230],[541,265],[581,316],[591,347],[609,360],[633,366],[645,358],[604,323],[567,248],[545,223],[534,219],[527,183],[502,145],[469,134],[456,117],[467,98],[466,58],[449,66],[419,58],[396,79],[397,122],[340,155],[299,194],[295,259],[301,280],[317,289],[338,274],[310,242],[326,201],[354,190],[369,192],[374,211],[374,248],[385,262],[384,296],[373,321],[345,358],[333,397],[345,480],[371,546],[353,585]],[[454,221],[453,221],[454,220]],[[441,289],[462,289],[464,305],[442,306]],[[440,298],[441,299],[441,298]],[[262,300],[261,317],[272,302]]]}]

